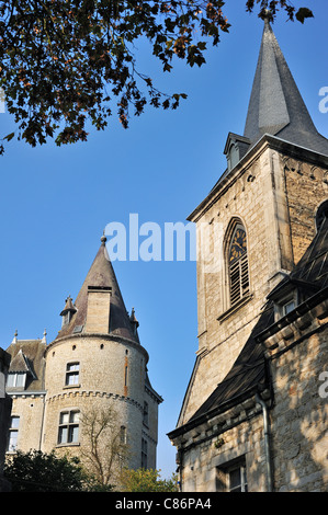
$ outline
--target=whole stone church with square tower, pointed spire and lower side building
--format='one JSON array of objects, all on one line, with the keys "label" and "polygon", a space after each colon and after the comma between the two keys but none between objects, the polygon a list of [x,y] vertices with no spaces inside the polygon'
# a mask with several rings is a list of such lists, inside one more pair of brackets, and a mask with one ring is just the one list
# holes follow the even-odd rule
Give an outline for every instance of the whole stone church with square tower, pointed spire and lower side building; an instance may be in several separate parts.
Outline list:
[{"label": "whole stone church with square tower, pointed spire and lower side building", "polygon": [[326,491],[328,139],[269,20],[245,133],[224,153],[227,170],[189,217],[199,351],[169,433],[181,488]]}]

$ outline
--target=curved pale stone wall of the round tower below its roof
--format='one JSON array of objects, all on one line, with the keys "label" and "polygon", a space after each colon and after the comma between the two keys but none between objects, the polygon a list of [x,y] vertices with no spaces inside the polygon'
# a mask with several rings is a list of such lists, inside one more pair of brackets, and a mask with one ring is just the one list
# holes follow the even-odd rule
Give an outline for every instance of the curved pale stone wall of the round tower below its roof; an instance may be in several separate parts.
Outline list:
[{"label": "curved pale stone wall of the round tower below its roof", "polygon": [[[99,410],[114,408],[117,428],[126,427],[128,466],[142,466],[142,438],[148,444],[148,464],[155,468],[157,443],[157,402],[145,393],[145,368],[148,355],[142,345],[105,335],[81,335],[56,341],[47,348],[46,422],[43,450],[70,449],[80,454],[88,445],[88,435],[81,432],[78,444],[58,445],[61,411],[79,410],[81,416],[95,405]],[[66,385],[67,364],[79,364],[76,385]],[[149,405],[149,426],[143,424],[144,401]],[[156,417],[155,417],[156,414]]]}]

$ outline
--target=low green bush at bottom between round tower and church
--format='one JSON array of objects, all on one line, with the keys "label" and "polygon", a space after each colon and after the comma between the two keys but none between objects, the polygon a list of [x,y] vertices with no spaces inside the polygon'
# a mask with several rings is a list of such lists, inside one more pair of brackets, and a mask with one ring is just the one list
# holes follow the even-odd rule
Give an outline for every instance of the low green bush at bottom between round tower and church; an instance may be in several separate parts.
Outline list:
[{"label": "low green bush at bottom between round tower and church", "polygon": [[124,492],[178,492],[177,477],[160,479],[160,470],[124,469],[121,477]]}]

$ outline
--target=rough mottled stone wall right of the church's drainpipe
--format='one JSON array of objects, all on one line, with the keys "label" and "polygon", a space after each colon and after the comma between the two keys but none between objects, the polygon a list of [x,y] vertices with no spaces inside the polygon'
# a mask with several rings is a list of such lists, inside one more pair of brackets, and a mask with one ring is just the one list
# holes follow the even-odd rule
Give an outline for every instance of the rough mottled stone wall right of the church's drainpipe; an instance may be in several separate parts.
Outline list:
[{"label": "rough mottled stone wall right of the church's drainpipe", "polygon": [[273,358],[273,465],[279,492],[328,489],[328,394],[319,376],[327,368],[327,329]]}]

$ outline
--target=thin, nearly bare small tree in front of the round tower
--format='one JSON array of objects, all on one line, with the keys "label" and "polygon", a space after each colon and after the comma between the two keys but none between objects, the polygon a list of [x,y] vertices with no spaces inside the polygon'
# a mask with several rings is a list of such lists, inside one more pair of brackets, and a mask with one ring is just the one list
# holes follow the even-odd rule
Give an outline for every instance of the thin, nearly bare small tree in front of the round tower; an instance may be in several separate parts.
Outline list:
[{"label": "thin, nearly bare small tree in front of the round tower", "polygon": [[113,405],[90,408],[81,414],[83,446],[81,459],[94,477],[97,489],[112,488],[117,470],[128,456],[128,446],[122,438],[120,417]]}]

